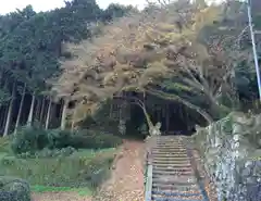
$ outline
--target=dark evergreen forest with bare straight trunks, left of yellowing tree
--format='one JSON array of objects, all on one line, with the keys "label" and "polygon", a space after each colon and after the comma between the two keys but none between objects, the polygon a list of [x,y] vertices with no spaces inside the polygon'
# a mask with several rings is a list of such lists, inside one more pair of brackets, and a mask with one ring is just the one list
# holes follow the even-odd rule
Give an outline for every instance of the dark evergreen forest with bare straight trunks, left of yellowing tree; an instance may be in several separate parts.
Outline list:
[{"label": "dark evergreen forest with bare straight trunks, left of yellowing tree", "polygon": [[[63,43],[90,38],[98,32],[94,33],[94,25],[105,24],[129,10],[133,8],[117,4],[101,10],[95,0],[73,0],[49,12],[36,13],[27,5],[1,15],[1,133],[7,136],[33,122],[49,127],[54,121],[52,126],[59,126],[62,101],[55,103],[48,80],[60,75],[59,60],[70,56],[62,51]],[[50,114],[52,106],[57,110]]]}]

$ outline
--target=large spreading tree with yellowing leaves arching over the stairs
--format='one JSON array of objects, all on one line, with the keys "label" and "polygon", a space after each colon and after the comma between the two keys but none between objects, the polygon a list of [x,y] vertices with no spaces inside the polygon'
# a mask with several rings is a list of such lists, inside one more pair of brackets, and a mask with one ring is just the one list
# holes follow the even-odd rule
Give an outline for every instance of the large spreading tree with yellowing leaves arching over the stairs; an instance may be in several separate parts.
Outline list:
[{"label": "large spreading tree with yellowing leaves arching over the stairs", "polygon": [[221,7],[177,1],[114,21],[103,27],[103,36],[66,46],[74,58],[62,62],[54,90],[69,87],[71,99],[80,105],[84,100],[87,111],[122,91],[141,91],[185,104],[211,123],[225,108],[217,96],[229,88],[232,60],[219,46],[226,38],[204,43],[199,35],[221,20]]}]

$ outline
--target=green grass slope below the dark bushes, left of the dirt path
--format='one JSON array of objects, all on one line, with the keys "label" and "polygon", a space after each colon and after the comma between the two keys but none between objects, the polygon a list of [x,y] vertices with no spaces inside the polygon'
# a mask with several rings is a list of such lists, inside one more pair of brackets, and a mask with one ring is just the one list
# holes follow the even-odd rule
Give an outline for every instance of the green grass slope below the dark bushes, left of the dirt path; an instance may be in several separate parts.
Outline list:
[{"label": "green grass slope below the dark bushes, left of the dirt path", "polygon": [[[42,186],[97,186],[113,161],[114,150],[80,150],[70,156],[45,159],[16,159],[4,155],[0,161],[0,175],[27,179]],[[94,183],[94,184],[92,184]],[[88,186],[88,185],[87,185]]]}]

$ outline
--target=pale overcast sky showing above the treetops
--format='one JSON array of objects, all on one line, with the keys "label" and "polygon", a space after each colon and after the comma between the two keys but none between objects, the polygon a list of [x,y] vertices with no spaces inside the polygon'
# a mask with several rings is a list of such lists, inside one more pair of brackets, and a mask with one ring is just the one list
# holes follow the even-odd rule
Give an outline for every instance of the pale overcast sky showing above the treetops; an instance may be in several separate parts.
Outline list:
[{"label": "pale overcast sky showing above the treetops", "polygon": [[[7,0],[1,3],[0,14],[5,14],[15,9],[23,9],[28,4],[32,4],[35,11],[48,11],[54,8],[64,5],[64,0]],[[145,4],[146,0],[96,0],[96,2],[102,8],[107,8],[110,3],[133,4],[139,8]]]}]

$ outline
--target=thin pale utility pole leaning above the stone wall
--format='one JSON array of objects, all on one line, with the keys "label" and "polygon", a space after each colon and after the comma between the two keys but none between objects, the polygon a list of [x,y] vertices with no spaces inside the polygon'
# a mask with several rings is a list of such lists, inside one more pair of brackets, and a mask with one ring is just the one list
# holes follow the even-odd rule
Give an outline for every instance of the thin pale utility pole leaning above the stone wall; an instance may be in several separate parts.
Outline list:
[{"label": "thin pale utility pole leaning above the stone wall", "polygon": [[251,40],[252,40],[253,60],[254,60],[254,66],[256,66],[256,72],[257,72],[257,78],[258,78],[259,99],[261,101],[261,78],[260,78],[260,70],[259,70],[259,63],[258,63],[256,38],[254,38],[254,32],[253,32],[251,0],[247,0],[247,8],[248,8],[248,23],[249,23],[250,35],[251,35]]}]

